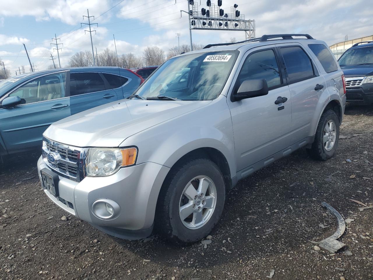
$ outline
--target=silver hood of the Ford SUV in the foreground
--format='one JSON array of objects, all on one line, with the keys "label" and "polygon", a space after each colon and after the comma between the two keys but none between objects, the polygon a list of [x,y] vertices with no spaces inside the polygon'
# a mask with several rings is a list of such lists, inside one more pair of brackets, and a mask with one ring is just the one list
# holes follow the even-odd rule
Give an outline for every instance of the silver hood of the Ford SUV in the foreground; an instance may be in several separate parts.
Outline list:
[{"label": "silver hood of the Ford SUV in the foreground", "polygon": [[43,135],[71,146],[118,147],[129,136],[210,102],[123,99],[54,122]]}]

